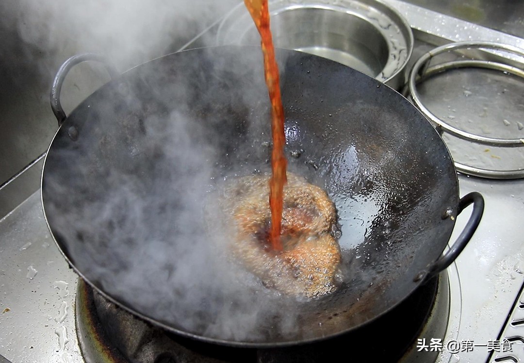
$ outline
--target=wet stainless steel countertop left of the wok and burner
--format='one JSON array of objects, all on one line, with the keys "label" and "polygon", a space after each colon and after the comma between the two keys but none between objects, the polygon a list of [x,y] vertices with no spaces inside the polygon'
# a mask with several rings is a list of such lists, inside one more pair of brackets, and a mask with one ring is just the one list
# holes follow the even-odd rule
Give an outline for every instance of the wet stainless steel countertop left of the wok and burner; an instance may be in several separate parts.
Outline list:
[{"label": "wet stainless steel countertop left of the wok and burner", "polygon": [[0,220],[0,354],[14,363],[82,362],[78,276],[54,243],[36,191]]}]

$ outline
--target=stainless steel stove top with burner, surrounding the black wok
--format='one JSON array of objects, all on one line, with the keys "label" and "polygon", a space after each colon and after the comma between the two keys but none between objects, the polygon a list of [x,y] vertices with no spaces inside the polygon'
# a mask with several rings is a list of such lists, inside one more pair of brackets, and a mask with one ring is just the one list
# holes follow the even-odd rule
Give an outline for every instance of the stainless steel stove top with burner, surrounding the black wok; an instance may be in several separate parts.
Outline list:
[{"label": "stainless steel stove top with burner, surrounding the black wok", "polygon": [[[521,41],[396,0],[386,3],[397,8],[414,30],[416,48],[411,64],[422,53],[444,42],[475,39],[519,46]],[[209,44],[218,24],[182,49]],[[500,137],[524,138],[518,107],[515,115],[511,115],[512,110],[510,116],[497,115],[508,111],[501,106],[490,114],[492,91],[484,91],[481,83],[494,80],[492,83],[500,83],[500,92],[518,94],[518,82],[507,84],[492,74],[479,76],[477,72],[461,78],[461,82],[468,83],[461,83],[454,95],[450,87],[456,85],[458,78],[452,72],[440,80],[420,84],[420,94],[428,108],[448,122],[459,119],[461,112],[475,113],[478,118],[470,117],[465,122],[473,120],[479,124],[484,119],[499,117]],[[479,94],[480,101],[464,102]],[[509,103],[524,107],[518,100]],[[478,127],[479,132],[492,135],[497,133],[493,129],[492,124]],[[524,153],[519,148],[508,151],[477,145],[474,147],[481,147],[485,157],[475,158],[471,155],[478,150],[470,150],[471,143],[465,144],[445,133],[443,138],[455,160],[461,163],[524,167]],[[460,174],[459,185],[461,196],[470,191],[479,191],[484,196],[483,220],[456,262],[410,297],[407,304],[400,305],[403,310],[370,325],[359,336],[346,335],[315,346],[269,350],[195,343],[159,331],[105,301],[79,280],[58,251],[37,191],[0,220],[0,362],[121,362],[129,357],[151,363],[303,362],[315,361],[323,352],[333,353],[337,349],[346,353],[351,350],[355,356],[369,361],[521,361],[524,359],[524,296],[521,296],[524,179],[497,180]],[[469,211],[470,208],[466,209],[457,218],[450,244],[462,231]],[[408,330],[412,334],[407,338],[399,336],[411,323]]]}]

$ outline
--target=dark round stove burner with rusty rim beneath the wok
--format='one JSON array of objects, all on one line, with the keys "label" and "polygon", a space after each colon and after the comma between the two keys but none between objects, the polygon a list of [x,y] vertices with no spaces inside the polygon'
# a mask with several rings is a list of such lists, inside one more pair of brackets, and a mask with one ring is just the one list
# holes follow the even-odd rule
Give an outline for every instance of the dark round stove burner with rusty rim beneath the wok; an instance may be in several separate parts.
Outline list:
[{"label": "dark round stove burner with rusty rim beneath the wok", "polygon": [[417,355],[417,338],[443,338],[449,317],[447,275],[434,278],[395,309],[357,332],[285,348],[236,348],[181,337],[138,319],[79,280],[77,335],[86,362],[313,363],[340,353],[369,361],[434,361]]}]

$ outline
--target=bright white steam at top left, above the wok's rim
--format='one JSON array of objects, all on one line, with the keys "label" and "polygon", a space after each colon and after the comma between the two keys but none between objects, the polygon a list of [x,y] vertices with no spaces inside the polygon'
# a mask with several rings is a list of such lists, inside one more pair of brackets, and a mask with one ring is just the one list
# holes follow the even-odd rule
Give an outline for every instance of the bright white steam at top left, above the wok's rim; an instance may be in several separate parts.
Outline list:
[{"label": "bright white steam at top left, above the wok's rim", "polygon": [[[4,4],[23,42],[61,56],[100,53],[131,66],[172,52],[237,0],[20,0]],[[10,4],[9,4],[10,3]],[[173,47],[173,44],[174,47]],[[173,49],[175,48],[175,49]]]}]

